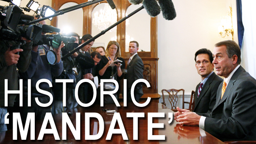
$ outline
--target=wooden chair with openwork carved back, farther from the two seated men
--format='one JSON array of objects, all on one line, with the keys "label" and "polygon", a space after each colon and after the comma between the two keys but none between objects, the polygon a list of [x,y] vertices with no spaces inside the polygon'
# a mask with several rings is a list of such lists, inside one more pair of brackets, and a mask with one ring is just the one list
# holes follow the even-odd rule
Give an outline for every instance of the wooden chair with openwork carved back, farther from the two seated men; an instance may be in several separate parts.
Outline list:
[{"label": "wooden chair with openwork carved back, farther from the two seated men", "polygon": [[162,95],[163,95],[163,104],[166,106],[166,103],[164,101],[164,91],[166,91],[169,94],[168,100],[171,103],[171,109],[173,111],[177,111],[176,107],[177,107],[177,102],[178,102],[178,92],[183,91],[182,94],[182,109],[184,109],[184,89],[180,89],[180,90],[175,90],[175,89],[170,89],[170,90],[162,90]]}]

